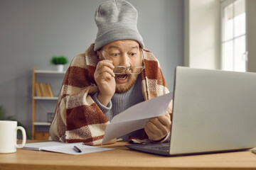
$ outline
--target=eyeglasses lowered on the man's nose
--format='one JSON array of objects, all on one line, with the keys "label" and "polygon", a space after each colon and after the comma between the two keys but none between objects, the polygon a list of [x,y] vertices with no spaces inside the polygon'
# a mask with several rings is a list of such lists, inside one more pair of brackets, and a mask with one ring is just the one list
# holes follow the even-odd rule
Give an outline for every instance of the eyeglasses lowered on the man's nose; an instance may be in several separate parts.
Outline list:
[{"label": "eyeglasses lowered on the man's nose", "polygon": [[[105,60],[107,60],[107,58],[103,53],[103,50],[101,50],[101,52]],[[134,67],[114,66],[113,72],[114,74],[124,74],[125,72],[127,72],[127,69],[128,69],[130,74],[140,74],[142,70],[145,69],[143,50],[142,50],[142,59],[143,59],[143,66],[134,66]]]}]

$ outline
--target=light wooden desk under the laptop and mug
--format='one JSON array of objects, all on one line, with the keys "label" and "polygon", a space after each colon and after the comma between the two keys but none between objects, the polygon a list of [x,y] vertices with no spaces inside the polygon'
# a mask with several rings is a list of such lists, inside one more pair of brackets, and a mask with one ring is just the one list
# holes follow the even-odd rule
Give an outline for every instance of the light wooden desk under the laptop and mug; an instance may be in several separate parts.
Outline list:
[{"label": "light wooden desk under the laptop and mug", "polygon": [[104,146],[114,150],[81,155],[17,149],[13,154],[0,154],[0,169],[256,169],[256,154],[250,150],[162,157],[132,151],[124,147],[126,144],[117,142]]}]

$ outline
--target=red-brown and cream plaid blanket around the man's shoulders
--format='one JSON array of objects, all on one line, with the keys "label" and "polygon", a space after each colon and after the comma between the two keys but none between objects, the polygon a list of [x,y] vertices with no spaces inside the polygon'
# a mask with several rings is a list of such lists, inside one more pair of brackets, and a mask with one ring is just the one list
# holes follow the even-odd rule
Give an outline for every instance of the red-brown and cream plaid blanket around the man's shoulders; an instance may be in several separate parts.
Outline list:
[{"label": "red-brown and cream plaid blanket around the man's shoulders", "polygon": [[[98,91],[94,73],[99,58],[93,47],[94,44],[90,45],[85,54],[70,62],[50,125],[52,140],[101,145],[110,122],[91,98]],[[142,94],[145,100],[149,100],[167,94],[169,90],[158,60],[148,50],[144,52],[146,68],[142,72]],[[168,112],[171,113],[171,106]]]}]

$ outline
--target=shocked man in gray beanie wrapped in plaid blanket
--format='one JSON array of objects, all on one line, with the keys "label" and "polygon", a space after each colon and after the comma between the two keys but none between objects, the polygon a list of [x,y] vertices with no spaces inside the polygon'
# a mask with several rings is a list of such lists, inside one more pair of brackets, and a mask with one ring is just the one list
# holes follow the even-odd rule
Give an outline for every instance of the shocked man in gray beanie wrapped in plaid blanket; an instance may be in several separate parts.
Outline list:
[{"label": "shocked man in gray beanie wrapped in plaid blanket", "polygon": [[[159,62],[143,49],[132,4],[124,0],[100,4],[95,23],[95,43],[73,59],[65,74],[50,125],[53,140],[100,145],[114,115],[169,93]],[[171,127],[169,113],[171,106],[166,115],[151,118],[144,129],[124,135],[122,140],[166,141]]]}]

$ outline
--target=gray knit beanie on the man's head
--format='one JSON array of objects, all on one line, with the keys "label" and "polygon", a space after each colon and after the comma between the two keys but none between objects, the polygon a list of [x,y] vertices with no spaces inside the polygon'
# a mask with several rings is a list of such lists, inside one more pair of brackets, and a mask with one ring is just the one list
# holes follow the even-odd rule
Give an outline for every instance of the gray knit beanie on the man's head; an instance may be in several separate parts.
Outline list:
[{"label": "gray knit beanie on the man's head", "polygon": [[125,0],[105,1],[95,12],[98,28],[94,50],[115,40],[136,40],[143,48],[142,35],[137,29],[137,9]]}]

